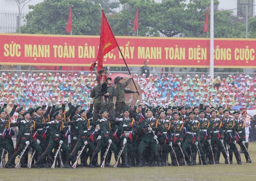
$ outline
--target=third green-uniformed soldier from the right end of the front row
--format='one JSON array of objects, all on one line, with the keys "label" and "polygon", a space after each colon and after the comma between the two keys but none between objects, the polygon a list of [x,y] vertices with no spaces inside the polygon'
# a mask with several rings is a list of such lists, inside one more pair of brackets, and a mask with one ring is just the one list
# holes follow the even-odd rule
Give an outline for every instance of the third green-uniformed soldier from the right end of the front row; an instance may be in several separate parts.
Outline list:
[{"label": "third green-uniformed soldier from the right end of the front row", "polygon": [[224,132],[222,121],[217,118],[217,111],[211,111],[211,145],[213,148],[215,164],[220,164],[220,152],[224,155],[225,160],[228,160],[224,145]]}]

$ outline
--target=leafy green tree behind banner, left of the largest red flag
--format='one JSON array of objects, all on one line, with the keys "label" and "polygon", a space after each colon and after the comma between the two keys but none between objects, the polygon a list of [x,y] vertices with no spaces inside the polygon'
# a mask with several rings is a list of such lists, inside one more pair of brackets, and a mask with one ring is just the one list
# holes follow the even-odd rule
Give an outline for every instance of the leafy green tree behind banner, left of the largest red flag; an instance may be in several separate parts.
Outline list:
[{"label": "leafy green tree behind banner, left of the largest red flag", "polygon": [[45,0],[29,7],[32,11],[26,15],[27,23],[21,31],[32,34],[67,34],[67,19],[72,5],[72,34],[99,35],[99,3],[106,7],[106,13],[112,13],[111,8],[118,6],[118,3],[109,3],[109,0]]}]

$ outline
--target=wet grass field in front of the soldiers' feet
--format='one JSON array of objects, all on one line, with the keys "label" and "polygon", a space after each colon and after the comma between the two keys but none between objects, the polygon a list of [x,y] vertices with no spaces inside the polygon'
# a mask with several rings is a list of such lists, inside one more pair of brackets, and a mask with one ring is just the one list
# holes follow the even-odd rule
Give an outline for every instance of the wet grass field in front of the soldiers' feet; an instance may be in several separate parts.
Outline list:
[{"label": "wet grass field in front of the soldiers' feet", "polygon": [[[249,143],[249,152],[256,163],[256,143]],[[241,154],[245,162],[244,154]],[[169,159],[170,160],[170,159]],[[170,161],[169,161],[170,162]],[[131,167],[131,168],[84,168],[76,169],[0,169],[1,180],[256,180],[256,164],[194,165],[180,167]],[[111,165],[114,165],[112,159]]]}]

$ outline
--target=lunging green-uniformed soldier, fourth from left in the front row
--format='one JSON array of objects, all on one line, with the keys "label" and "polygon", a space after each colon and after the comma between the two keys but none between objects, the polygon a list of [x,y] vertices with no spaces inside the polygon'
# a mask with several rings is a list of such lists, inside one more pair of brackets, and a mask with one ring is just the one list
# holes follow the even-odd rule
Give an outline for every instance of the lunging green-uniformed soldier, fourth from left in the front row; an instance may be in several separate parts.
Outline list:
[{"label": "lunging green-uniformed soldier, fourth from left in the front row", "polygon": [[[64,167],[71,167],[70,160],[72,160],[72,164],[74,164],[76,155],[78,154],[78,151],[81,150],[81,148],[85,145],[86,148],[83,150],[83,152],[86,152],[87,148],[89,149],[89,155],[92,155],[93,150],[95,149],[95,146],[93,145],[92,140],[90,140],[88,136],[88,128],[90,126],[90,121],[86,119],[86,111],[84,109],[81,109],[78,114],[80,115],[80,118],[76,120],[76,125],[78,127],[78,141],[72,150],[71,154],[69,155],[69,158],[66,160],[66,163],[64,164]],[[81,158],[83,159],[83,158]],[[92,167],[93,165],[91,165]]]}]

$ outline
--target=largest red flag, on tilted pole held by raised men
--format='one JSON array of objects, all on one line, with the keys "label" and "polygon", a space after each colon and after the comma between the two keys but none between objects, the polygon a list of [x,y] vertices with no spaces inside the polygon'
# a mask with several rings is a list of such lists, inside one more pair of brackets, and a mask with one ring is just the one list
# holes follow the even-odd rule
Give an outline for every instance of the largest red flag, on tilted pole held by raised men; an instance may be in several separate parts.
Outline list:
[{"label": "largest red flag, on tilted pole held by raised men", "polygon": [[103,10],[101,11],[102,11],[102,20],[101,20],[101,28],[100,28],[100,46],[99,46],[99,52],[96,59],[98,62],[98,67],[97,67],[98,71],[101,70],[103,67],[102,65],[103,56],[106,55],[111,50],[113,50],[115,47],[117,47],[116,38],[112,33],[109,23],[107,22],[107,18],[104,14],[104,11]]}]

